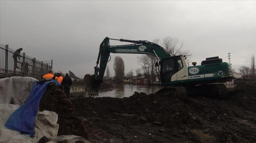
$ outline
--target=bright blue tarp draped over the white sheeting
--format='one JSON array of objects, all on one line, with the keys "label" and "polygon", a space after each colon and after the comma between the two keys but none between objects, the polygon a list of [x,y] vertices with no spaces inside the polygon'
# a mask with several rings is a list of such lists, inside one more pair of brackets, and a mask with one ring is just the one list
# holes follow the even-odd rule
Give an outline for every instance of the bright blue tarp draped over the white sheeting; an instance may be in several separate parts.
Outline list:
[{"label": "bright blue tarp draped over the white sheeting", "polygon": [[55,82],[57,85],[60,85],[56,80],[50,80],[43,83],[36,81],[29,95],[28,102],[11,114],[10,118],[5,123],[5,127],[11,130],[20,131],[22,134],[29,134],[30,137],[34,137],[35,118],[38,112],[39,103],[45,93],[47,85],[51,82]]}]

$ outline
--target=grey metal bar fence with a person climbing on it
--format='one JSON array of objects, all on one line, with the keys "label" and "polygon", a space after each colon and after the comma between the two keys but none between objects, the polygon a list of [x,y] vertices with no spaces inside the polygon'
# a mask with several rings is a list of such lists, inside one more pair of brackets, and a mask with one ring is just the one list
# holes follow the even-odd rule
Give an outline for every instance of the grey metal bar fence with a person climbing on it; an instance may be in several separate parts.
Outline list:
[{"label": "grey metal bar fence with a person climbing on it", "polygon": [[[0,45],[0,77],[29,76],[42,80],[42,76],[53,68],[53,60],[38,61],[25,53],[19,57],[8,45]],[[15,55],[17,55],[15,57]]]}]

